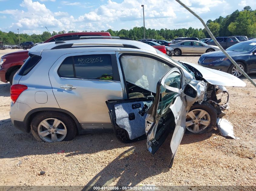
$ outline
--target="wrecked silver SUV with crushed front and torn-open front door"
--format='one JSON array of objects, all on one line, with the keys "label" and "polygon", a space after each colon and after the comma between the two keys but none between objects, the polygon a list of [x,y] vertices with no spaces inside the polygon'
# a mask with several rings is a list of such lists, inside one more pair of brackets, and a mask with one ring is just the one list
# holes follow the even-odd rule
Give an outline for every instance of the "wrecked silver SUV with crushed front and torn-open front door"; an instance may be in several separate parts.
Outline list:
[{"label": "wrecked silver SUV with crushed front and torn-open front door", "polygon": [[224,116],[224,86],[245,86],[233,75],[175,61],[145,43],[82,38],[31,48],[14,76],[12,123],[38,141],[114,129],[124,143],[147,138],[154,154],[174,129],[171,166],[185,131],[209,132]]}]

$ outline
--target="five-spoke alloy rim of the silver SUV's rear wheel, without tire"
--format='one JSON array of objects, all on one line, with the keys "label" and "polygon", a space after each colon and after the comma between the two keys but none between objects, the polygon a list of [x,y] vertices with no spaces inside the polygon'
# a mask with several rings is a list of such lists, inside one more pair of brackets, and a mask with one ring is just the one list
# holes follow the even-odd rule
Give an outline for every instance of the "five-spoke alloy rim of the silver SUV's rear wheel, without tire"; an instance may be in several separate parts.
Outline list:
[{"label": "five-spoke alloy rim of the silver SUV's rear wheel, without tire", "polygon": [[44,119],[39,123],[37,131],[40,138],[46,142],[60,142],[67,135],[67,127],[56,118]]}]

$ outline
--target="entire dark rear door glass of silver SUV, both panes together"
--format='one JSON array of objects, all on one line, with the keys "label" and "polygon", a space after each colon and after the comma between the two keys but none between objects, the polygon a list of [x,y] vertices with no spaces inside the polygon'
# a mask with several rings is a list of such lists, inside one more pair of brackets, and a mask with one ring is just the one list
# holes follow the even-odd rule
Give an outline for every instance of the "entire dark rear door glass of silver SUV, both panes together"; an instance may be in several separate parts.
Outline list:
[{"label": "entire dark rear door glass of silver SUV, both panes together", "polygon": [[118,79],[116,76],[114,78],[111,55],[108,54],[67,57],[59,67],[58,74],[65,78]]}]

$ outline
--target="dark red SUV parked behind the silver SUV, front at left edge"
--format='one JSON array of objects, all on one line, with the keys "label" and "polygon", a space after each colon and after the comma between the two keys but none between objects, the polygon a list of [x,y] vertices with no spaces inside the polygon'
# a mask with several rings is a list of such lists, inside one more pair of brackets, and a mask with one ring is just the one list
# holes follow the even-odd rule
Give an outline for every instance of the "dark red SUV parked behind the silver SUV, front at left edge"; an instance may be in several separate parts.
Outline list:
[{"label": "dark red SUV parked behind the silver SUV, front at left edge", "polygon": [[[47,40],[44,43],[61,41],[61,40],[74,40],[73,37],[81,36],[111,36],[109,32],[81,32],[81,33],[64,33],[57,34]],[[72,39],[73,38],[73,39]],[[0,81],[10,82],[12,85],[12,79],[18,69],[22,66],[25,59],[28,58],[28,51],[18,51],[14,53],[5,54],[0,61]]]}]

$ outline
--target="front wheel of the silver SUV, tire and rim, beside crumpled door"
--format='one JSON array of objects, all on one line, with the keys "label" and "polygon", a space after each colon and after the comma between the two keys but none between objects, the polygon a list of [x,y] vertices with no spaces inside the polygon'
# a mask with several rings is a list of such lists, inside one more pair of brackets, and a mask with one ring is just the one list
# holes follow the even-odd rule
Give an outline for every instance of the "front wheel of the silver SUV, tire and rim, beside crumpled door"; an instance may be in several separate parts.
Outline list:
[{"label": "front wheel of the silver SUV, tire and rim, beside crumpled door", "polygon": [[[204,113],[201,113],[204,112]],[[191,115],[194,113],[194,118]],[[200,116],[203,115],[203,116]],[[199,118],[199,119],[198,119]],[[204,121],[202,124],[202,121]],[[193,123],[194,122],[194,123]],[[217,112],[214,107],[203,101],[201,104],[195,103],[191,106],[188,115],[186,117],[186,133],[187,134],[203,134],[210,132],[217,123]],[[189,126],[189,124],[191,124]],[[197,130],[195,130],[195,126],[198,125]]]}]

